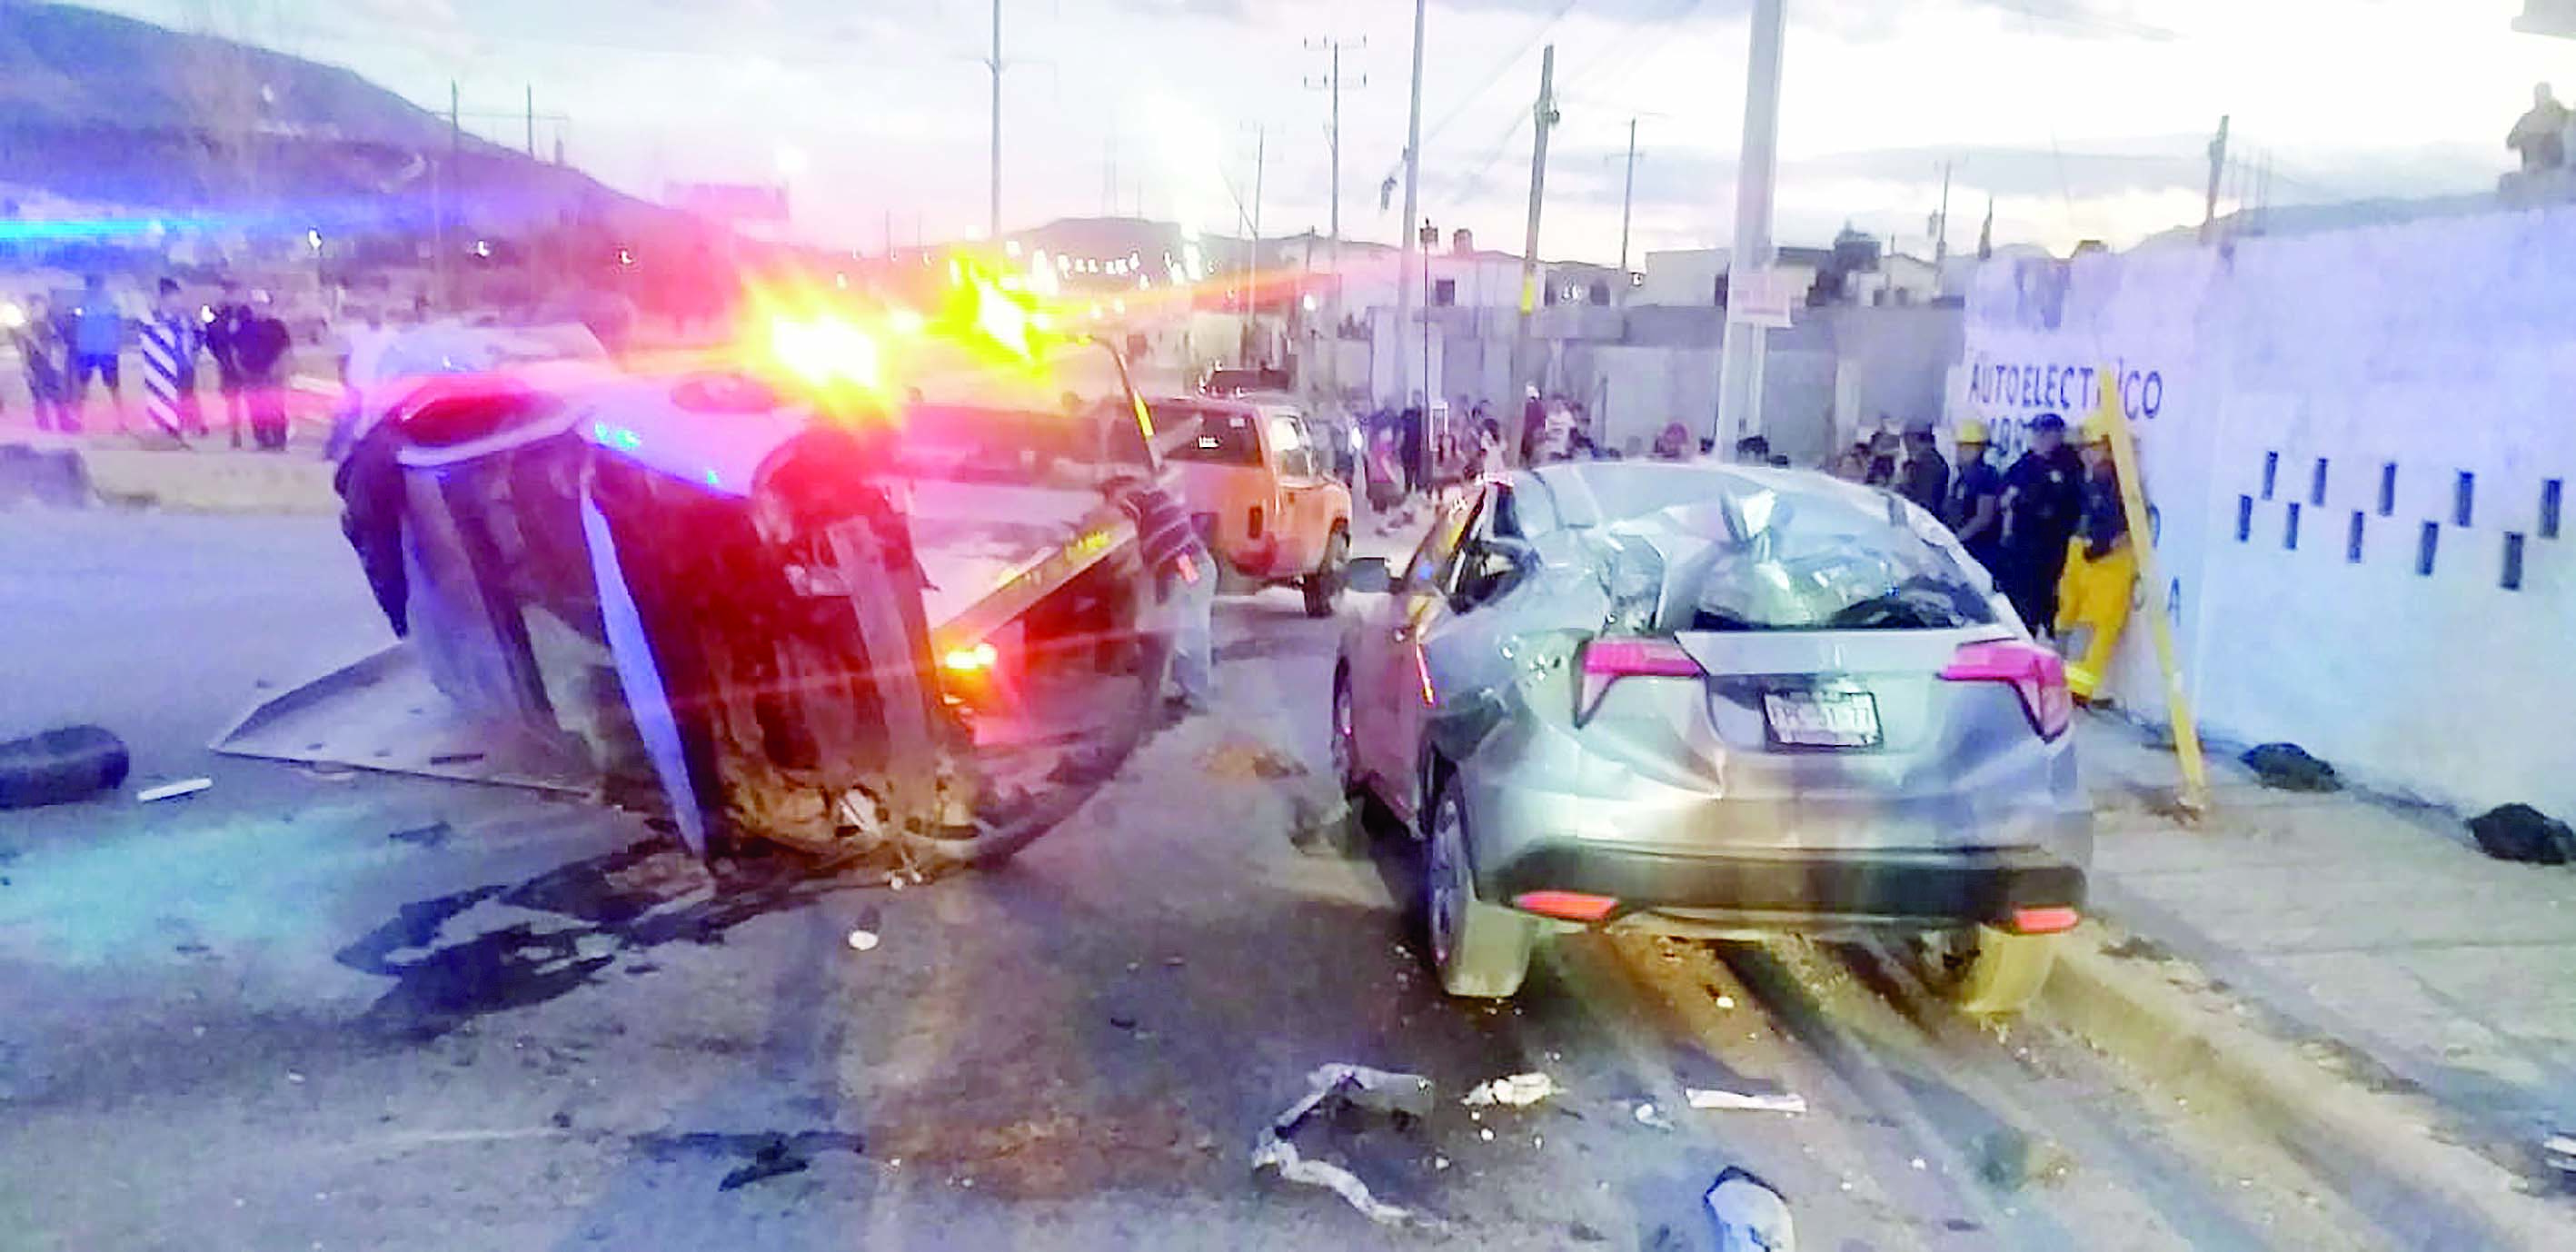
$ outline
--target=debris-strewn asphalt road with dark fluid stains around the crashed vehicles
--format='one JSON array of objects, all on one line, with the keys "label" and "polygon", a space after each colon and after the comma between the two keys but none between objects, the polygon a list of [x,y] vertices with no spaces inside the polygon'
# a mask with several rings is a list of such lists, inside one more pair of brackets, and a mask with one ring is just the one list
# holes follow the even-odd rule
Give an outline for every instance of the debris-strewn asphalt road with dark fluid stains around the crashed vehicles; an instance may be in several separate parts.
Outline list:
[{"label": "debris-strewn asphalt road with dark fluid stains around the crashed vehicles", "polygon": [[[1728,1164],[1808,1249],[2375,1242],[1878,951],[1569,938],[1515,1005],[1443,1000],[1409,845],[1332,822],[1334,634],[1224,603],[1218,714],[1002,871],[719,891],[626,814],[206,752],[381,641],[327,518],[5,513],[0,734],[100,721],[216,786],[0,814],[0,1244],[1695,1249]],[[1419,1221],[1247,1170],[1327,1061],[1435,1082],[1342,1128]],[[1458,1103],[1533,1069],[1561,1092]]]}]

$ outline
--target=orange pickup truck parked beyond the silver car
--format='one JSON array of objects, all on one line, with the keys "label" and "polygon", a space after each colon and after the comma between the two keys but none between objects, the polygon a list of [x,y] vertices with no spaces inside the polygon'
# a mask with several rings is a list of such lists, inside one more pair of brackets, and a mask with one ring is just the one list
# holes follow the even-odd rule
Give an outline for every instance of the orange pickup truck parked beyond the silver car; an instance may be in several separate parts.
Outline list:
[{"label": "orange pickup truck parked beyond the silver car", "polygon": [[1329,618],[1350,564],[1350,487],[1288,399],[1149,402],[1164,461],[1231,582],[1296,585]]}]

